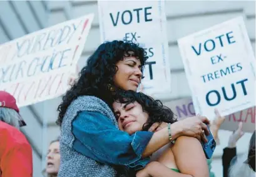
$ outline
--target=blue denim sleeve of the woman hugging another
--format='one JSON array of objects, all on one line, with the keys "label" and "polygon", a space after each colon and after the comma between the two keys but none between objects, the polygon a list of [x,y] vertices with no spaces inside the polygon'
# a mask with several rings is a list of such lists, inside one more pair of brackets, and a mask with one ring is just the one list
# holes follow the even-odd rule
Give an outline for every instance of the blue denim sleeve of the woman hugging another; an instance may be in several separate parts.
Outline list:
[{"label": "blue denim sleeve of the woman hugging another", "polygon": [[95,161],[125,165],[135,170],[144,168],[150,162],[150,158],[141,159],[153,136],[149,131],[129,135],[117,129],[103,114],[82,111],[72,123],[72,132],[75,137],[73,148]]}]

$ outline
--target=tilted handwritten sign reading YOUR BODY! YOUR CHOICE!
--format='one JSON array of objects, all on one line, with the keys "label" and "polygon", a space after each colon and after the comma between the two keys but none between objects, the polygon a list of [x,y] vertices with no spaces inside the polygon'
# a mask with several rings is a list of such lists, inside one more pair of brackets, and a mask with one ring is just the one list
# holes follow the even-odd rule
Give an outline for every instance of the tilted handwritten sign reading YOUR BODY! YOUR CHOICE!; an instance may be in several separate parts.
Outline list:
[{"label": "tilted handwritten sign reading YOUR BODY! YOUR CHOICE!", "polygon": [[93,14],[0,46],[0,90],[27,106],[64,94],[84,48]]}]

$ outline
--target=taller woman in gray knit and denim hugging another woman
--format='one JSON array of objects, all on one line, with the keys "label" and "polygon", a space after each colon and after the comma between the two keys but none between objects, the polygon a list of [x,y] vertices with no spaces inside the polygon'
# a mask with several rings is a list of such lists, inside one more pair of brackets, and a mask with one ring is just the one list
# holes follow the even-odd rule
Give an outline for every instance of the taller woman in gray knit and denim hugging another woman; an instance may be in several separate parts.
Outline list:
[{"label": "taller woman in gray knit and denim hugging another woman", "polygon": [[[144,168],[148,156],[170,143],[167,127],[156,133],[120,131],[111,109],[116,90],[136,91],[147,58],[143,48],[123,41],[103,43],[90,56],[58,108],[59,177],[121,176],[116,166]],[[207,141],[203,122],[209,123],[207,118],[195,116],[173,123],[172,138],[186,135]]]}]

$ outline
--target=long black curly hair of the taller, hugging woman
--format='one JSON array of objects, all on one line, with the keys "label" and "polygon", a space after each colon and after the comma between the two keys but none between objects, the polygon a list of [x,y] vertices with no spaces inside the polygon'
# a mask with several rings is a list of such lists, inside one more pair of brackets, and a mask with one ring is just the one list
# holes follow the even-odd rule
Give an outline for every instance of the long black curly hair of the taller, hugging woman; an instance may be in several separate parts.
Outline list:
[{"label": "long black curly hair of the taller, hugging woman", "polygon": [[129,51],[132,51],[133,56],[140,59],[141,68],[143,68],[148,57],[145,50],[138,44],[125,41],[101,44],[88,58],[87,65],[81,69],[78,81],[63,96],[63,102],[58,106],[59,116],[56,124],[61,126],[68,106],[78,96],[96,96],[111,106],[113,97],[109,87],[114,85],[113,77],[118,70],[116,63],[124,56],[127,57]]}]

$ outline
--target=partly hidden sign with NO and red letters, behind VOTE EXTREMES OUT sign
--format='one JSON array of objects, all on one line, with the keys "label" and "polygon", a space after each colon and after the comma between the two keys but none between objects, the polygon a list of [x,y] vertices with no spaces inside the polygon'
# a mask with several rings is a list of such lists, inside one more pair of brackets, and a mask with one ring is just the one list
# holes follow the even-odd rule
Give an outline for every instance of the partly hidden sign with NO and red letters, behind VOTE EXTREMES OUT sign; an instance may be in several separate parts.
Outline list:
[{"label": "partly hidden sign with NO and red letters, behind VOTE EXTREMES OUT sign", "polygon": [[[163,104],[172,109],[179,120],[195,116],[192,98],[177,99]],[[237,129],[239,122],[243,123],[243,131],[252,133],[255,130],[255,106],[225,116],[225,121],[220,129],[233,131]]]}]

